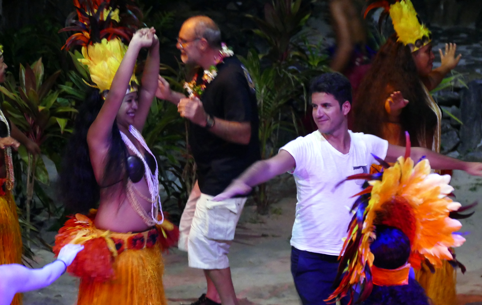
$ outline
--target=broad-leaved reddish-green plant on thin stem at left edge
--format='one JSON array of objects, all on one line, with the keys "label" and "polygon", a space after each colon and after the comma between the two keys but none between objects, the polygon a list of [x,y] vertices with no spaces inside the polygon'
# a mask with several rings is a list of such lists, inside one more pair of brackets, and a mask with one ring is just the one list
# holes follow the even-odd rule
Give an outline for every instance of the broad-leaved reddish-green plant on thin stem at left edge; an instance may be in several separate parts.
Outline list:
[{"label": "broad-leaved reddish-green plant on thin stem at left edge", "polygon": [[[42,145],[53,137],[61,137],[64,132],[71,132],[67,128],[69,114],[77,110],[68,103],[59,101],[60,90],[53,90],[53,86],[61,71],[44,80],[42,59],[27,66],[20,65],[19,86],[10,75],[5,87],[0,86],[4,94],[3,108],[10,114],[10,120],[22,130],[27,137]],[[19,149],[21,159],[27,164],[26,185],[26,221],[27,236],[30,231],[30,208],[34,196],[35,180],[48,185],[49,175],[38,155],[32,155],[25,148]]]}]

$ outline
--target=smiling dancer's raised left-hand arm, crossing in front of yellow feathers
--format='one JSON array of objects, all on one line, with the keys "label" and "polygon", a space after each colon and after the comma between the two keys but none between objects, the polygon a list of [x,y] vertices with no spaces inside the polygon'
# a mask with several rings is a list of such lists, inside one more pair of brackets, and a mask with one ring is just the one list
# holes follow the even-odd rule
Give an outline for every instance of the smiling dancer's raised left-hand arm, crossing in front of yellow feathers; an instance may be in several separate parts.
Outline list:
[{"label": "smiling dancer's raised left-hand arm, crossing in front of yellow feathers", "polygon": [[119,112],[120,105],[124,100],[128,85],[134,72],[135,61],[139,51],[143,47],[152,45],[152,38],[147,36],[149,29],[138,30],[127,48],[119,69],[112,80],[106,101],[89,128],[87,142],[89,147],[106,146],[112,132],[112,125]]}]

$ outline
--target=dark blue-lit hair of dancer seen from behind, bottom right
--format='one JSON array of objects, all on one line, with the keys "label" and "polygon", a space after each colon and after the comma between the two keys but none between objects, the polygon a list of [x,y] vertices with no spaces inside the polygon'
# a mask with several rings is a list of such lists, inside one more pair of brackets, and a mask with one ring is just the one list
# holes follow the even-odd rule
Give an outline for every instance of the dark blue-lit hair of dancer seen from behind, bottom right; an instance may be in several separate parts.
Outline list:
[{"label": "dark blue-lit hair of dancer seen from behind, bottom right", "polygon": [[[376,239],[370,245],[375,256],[373,264],[384,269],[397,269],[407,262],[410,256],[410,241],[402,230],[378,225]],[[363,305],[428,305],[424,289],[414,279],[408,279],[407,285],[374,285],[372,293]]]}]

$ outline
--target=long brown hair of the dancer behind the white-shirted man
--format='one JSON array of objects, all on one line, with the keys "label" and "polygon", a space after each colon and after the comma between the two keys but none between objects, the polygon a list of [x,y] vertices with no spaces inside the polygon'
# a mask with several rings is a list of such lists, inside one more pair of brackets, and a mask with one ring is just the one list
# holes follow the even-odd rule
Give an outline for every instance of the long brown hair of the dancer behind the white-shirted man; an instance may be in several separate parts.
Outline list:
[{"label": "long brown hair of the dancer behind the white-shirted man", "polygon": [[[396,34],[390,36],[380,48],[357,90],[353,131],[383,138],[383,123],[388,121],[385,101],[393,91],[401,91],[409,101],[400,115],[402,131],[410,133],[412,146],[422,146],[418,137],[431,138],[437,116],[425,100],[425,90],[410,48],[397,39]],[[400,143],[405,144],[403,132]]]}]

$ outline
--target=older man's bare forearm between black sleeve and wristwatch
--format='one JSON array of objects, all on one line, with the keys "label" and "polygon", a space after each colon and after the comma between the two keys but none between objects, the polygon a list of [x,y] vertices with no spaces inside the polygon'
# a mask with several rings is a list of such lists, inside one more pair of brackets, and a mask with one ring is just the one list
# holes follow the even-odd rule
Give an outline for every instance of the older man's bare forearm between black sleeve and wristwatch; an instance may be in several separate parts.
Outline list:
[{"label": "older man's bare forearm between black sleeve and wristwatch", "polygon": [[229,142],[247,145],[251,139],[251,123],[232,122],[213,117],[214,126],[209,131]]}]

